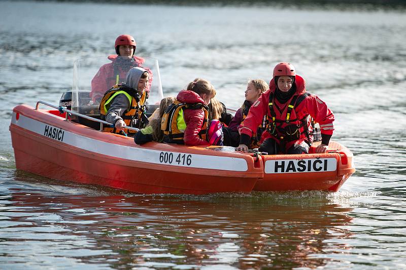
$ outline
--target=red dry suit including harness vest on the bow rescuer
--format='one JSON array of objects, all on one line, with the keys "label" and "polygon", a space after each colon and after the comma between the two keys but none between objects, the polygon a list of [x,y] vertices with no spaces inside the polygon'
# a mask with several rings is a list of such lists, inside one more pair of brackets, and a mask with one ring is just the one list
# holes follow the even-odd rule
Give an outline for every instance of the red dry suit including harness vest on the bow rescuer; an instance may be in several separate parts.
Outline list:
[{"label": "red dry suit including harness vest on the bow rescuer", "polygon": [[[269,96],[274,96],[276,89],[275,80],[271,80],[269,83],[269,90],[263,93],[261,97],[255,101],[254,104],[252,104],[247,118],[239,127],[240,133],[247,134],[252,137],[253,131],[256,132],[258,125],[260,125],[263,121],[264,115],[267,115],[269,124],[266,131],[262,133],[260,143],[267,138],[273,138],[278,143],[285,143],[285,149],[289,149],[293,144],[301,144],[303,141],[312,143],[313,128],[311,125],[311,119],[309,117],[310,115],[320,124],[322,137],[323,134],[328,135],[325,137],[327,137],[329,140],[334,130],[334,115],[332,111],[318,96],[310,94],[306,91],[306,82],[299,75],[296,75],[295,84],[296,92],[286,103],[281,104],[276,97],[269,100]],[[304,99],[302,99],[300,103],[292,102],[292,100],[300,100],[300,95],[304,95]],[[293,108],[288,109],[289,105],[292,105],[291,103],[294,103],[294,106]],[[270,106],[272,106],[275,112],[275,121],[273,121],[273,113],[270,111]],[[272,130],[274,123],[277,128],[276,132],[273,133]],[[300,131],[300,136],[298,139],[287,140],[287,136],[281,133],[281,130],[291,124],[298,126],[298,130]],[[304,130],[305,128],[307,128],[308,133]]]}]

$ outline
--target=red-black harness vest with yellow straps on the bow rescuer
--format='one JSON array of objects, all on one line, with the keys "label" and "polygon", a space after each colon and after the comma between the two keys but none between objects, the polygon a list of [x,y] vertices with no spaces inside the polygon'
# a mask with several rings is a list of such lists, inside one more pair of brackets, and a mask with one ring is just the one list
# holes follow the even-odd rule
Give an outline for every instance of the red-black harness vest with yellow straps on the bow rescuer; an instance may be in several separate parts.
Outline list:
[{"label": "red-black harness vest with yellow straps on the bow rescuer", "polygon": [[[274,103],[274,93],[269,94],[269,111],[272,119],[269,119],[269,123],[266,127],[266,131],[270,135],[277,138],[280,142],[286,143],[294,140],[298,140],[301,134],[306,135],[308,144],[312,143],[312,139],[309,133],[308,120],[310,115],[306,114],[303,119],[297,119],[296,111],[294,110],[307,96],[310,96],[309,92],[304,92],[300,95],[294,95],[290,103],[280,112],[279,118],[275,111],[276,104]],[[280,111],[278,108],[276,108]],[[291,116],[293,115],[293,118]],[[283,119],[282,119],[283,118]]]}]

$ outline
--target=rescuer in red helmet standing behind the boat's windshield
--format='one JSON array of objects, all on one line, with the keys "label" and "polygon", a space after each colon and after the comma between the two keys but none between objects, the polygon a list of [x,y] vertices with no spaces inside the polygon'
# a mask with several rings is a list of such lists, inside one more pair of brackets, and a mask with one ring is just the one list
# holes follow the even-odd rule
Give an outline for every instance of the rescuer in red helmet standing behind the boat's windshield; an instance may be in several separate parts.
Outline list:
[{"label": "rescuer in red helmet standing behind the boat's windshield", "polygon": [[[141,57],[134,56],[137,44],[134,38],[128,34],[119,35],[114,44],[117,55],[110,55],[108,59],[111,63],[101,66],[94,75],[91,82],[90,97],[93,102],[98,103],[104,93],[114,85],[118,85],[125,79],[125,75],[132,67],[142,66],[145,60]],[[152,83],[152,72],[148,70],[149,85],[147,86],[147,97],[149,94],[149,86]]]}]

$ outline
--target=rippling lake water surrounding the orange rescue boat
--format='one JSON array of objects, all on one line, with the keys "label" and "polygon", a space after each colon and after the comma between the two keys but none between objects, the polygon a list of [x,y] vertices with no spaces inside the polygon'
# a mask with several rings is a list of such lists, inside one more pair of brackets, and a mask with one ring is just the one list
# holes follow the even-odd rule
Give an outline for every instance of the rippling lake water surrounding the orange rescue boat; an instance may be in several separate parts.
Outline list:
[{"label": "rippling lake water surrounding the orange rescue boat", "polygon": [[[0,2],[0,268],[406,268],[404,11]],[[15,169],[12,108],[56,104],[73,62],[132,34],[165,95],[230,107],[289,61],[334,111],[356,173],[336,193],[145,196]]]}]

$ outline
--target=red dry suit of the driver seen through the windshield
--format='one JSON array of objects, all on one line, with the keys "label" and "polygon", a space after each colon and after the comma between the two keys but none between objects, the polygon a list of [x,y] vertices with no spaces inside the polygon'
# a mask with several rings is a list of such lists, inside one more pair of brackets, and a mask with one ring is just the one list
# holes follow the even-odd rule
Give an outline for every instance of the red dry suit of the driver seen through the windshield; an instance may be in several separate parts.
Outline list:
[{"label": "red dry suit of the driver seen through the windshield", "polygon": [[125,82],[125,76],[128,70],[130,70],[132,67],[137,66],[146,69],[149,73],[148,85],[146,89],[148,97],[149,90],[152,84],[152,71],[149,68],[142,66],[142,64],[145,62],[144,58],[133,56],[134,61],[128,61],[125,64],[125,67],[124,65],[118,64],[118,55],[110,55],[108,59],[112,62],[101,66],[92,79],[92,90],[90,91],[90,97],[93,102],[96,100],[101,100],[106,91],[113,86],[119,84],[120,82]]}]

